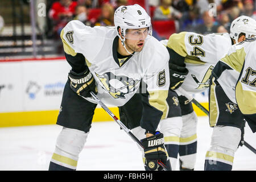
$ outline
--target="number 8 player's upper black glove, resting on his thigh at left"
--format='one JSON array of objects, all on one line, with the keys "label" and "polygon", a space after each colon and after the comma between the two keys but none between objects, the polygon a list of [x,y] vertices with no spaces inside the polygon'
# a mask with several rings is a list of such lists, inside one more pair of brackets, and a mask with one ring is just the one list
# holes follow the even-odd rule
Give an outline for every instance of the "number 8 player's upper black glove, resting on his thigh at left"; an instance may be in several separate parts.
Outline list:
[{"label": "number 8 player's upper black glove, resting on his thigh at left", "polygon": [[68,73],[68,79],[70,80],[71,89],[80,96],[90,97],[90,91],[97,94],[97,87],[95,80],[89,69],[77,74],[72,70]]}]

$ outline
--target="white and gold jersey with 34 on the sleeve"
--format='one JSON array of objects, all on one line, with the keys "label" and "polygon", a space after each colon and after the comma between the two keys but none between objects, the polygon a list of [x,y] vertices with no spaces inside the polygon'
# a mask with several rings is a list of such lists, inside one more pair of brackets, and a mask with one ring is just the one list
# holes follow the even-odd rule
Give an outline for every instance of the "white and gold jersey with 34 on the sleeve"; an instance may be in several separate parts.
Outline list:
[{"label": "white and gold jersey with 34 on the sleeve", "polygon": [[228,33],[201,35],[180,32],[162,43],[185,57],[184,63],[189,72],[181,88],[191,93],[202,92],[209,87],[212,69],[232,46]]}]

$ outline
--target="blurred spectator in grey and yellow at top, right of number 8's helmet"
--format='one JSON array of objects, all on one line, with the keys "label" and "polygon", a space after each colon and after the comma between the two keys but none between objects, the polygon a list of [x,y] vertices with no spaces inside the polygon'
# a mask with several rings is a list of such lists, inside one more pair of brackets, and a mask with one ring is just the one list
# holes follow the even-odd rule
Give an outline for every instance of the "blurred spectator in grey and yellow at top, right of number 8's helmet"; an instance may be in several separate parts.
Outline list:
[{"label": "blurred spectator in grey and yellow at top, right of number 8's helmet", "polygon": [[154,20],[174,20],[180,19],[180,11],[171,6],[172,0],[162,0],[161,5],[155,9]]}]

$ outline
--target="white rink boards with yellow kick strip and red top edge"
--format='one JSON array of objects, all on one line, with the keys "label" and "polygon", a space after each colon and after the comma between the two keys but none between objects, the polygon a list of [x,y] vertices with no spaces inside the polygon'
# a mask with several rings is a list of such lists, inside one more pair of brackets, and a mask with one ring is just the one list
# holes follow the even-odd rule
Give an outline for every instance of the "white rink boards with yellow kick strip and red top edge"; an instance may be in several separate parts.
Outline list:
[{"label": "white rink boards with yellow kick strip and red top edge", "polygon": [[[0,127],[56,123],[70,69],[64,57],[0,60]],[[195,98],[208,108],[206,92]],[[109,107],[119,117],[118,108]],[[197,115],[205,115],[194,109]],[[112,118],[97,106],[93,122],[97,121]]]}]

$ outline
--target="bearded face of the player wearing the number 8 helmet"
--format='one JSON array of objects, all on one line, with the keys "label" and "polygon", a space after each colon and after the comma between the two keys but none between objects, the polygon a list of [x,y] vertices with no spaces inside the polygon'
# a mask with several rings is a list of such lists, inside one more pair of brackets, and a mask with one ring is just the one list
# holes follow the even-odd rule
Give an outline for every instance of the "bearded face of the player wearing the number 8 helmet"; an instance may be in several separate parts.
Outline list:
[{"label": "bearded face of the player wearing the number 8 helmet", "polygon": [[125,35],[125,44],[128,51],[141,51],[147,36],[148,28],[128,29]]}]

